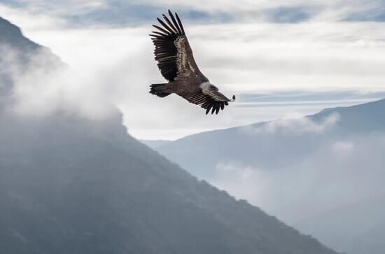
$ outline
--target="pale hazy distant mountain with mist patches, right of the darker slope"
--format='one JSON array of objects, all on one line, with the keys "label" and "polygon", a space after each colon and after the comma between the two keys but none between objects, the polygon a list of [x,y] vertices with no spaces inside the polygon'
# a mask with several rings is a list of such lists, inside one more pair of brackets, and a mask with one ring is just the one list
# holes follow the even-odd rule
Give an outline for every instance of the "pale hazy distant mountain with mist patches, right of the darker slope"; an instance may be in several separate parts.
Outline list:
[{"label": "pale hazy distant mountain with mist patches, right of the darker slope", "polygon": [[328,108],[186,136],[156,149],[337,251],[381,254],[384,109],[385,99]]}]

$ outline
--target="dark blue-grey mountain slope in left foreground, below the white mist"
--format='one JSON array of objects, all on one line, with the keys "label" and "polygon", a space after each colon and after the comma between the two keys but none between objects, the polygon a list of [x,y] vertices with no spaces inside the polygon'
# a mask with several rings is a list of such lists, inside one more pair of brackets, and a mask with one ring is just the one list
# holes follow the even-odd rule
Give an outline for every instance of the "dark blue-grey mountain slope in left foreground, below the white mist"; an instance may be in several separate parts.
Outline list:
[{"label": "dark blue-grey mountain slope in left foreground, below the white mist", "polygon": [[335,253],[133,139],[120,113],[65,109],[0,111],[0,236],[7,254]]}]

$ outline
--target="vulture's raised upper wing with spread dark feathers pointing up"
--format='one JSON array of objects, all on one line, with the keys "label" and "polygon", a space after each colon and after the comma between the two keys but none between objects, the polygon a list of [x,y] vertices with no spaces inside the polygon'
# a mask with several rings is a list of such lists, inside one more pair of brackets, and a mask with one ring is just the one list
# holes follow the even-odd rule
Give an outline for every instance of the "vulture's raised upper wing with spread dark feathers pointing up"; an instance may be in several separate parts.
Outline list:
[{"label": "vulture's raised upper wing with spread dark feathers pointing up", "polygon": [[153,25],[158,31],[153,31],[153,43],[155,45],[154,55],[158,62],[158,68],[162,76],[169,81],[175,80],[179,76],[190,76],[192,73],[205,78],[195,63],[193,51],[188,44],[188,40],[183,29],[178,14],[175,17],[169,10],[169,17],[163,15],[165,21],[158,21],[162,25]]}]

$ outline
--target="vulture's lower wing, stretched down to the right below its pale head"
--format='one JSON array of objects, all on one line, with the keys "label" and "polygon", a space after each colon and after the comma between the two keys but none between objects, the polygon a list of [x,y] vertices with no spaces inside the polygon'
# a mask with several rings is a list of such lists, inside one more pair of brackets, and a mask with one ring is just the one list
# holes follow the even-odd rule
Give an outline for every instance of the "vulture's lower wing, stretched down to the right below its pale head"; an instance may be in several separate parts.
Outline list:
[{"label": "vulture's lower wing, stretched down to the right below its pale head", "polygon": [[201,108],[206,109],[206,115],[210,110],[211,114],[214,114],[214,112],[218,114],[220,110],[228,106],[229,101],[235,100],[235,96],[233,96],[232,99],[228,99],[228,97],[225,97],[225,95],[218,91],[210,91],[207,93],[199,92],[183,98],[187,99],[190,103],[200,105]]}]

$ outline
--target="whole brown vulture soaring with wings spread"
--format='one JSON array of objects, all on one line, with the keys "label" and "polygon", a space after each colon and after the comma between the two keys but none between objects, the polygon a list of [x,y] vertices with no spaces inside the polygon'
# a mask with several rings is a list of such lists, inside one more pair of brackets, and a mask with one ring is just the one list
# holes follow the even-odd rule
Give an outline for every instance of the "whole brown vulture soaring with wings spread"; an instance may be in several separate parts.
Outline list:
[{"label": "whole brown vulture soaring with wings spread", "polygon": [[210,111],[211,114],[218,114],[228,106],[229,101],[235,101],[235,96],[228,99],[202,74],[195,63],[193,50],[178,14],[174,16],[169,10],[169,17],[163,14],[163,19],[158,18],[162,27],[153,24],[158,31],[153,31],[150,36],[155,45],[154,55],[158,68],[168,83],[151,85],[150,93],[158,97],[178,94],[204,108],[206,114]]}]

